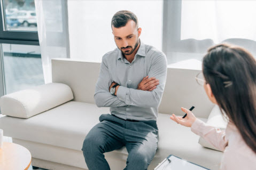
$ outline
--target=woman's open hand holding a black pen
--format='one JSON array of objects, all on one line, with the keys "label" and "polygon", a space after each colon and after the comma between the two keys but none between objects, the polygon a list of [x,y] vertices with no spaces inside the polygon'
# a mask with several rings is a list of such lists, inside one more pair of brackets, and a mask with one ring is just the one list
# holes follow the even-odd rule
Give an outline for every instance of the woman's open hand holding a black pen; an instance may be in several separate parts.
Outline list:
[{"label": "woman's open hand holding a black pen", "polygon": [[170,119],[172,119],[173,121],[183,125],[183,126],[187,126],[187,127],[191,127],[192,124],[196,121],[196,116],[188,109],[185,108],[181,108],[181,110],[183,112],[185,112],[187,114],[187,116],[185,118],[182,117],[176,117],[174,114],[172,116],[170,116]]}]

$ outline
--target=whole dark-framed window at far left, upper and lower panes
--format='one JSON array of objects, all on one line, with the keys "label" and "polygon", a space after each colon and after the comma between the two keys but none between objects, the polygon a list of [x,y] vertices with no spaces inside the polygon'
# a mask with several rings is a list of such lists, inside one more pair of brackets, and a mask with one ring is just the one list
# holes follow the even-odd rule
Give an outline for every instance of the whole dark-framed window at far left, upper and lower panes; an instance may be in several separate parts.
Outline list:
[{"label": "whole dark-framed window at far left, upper and lower panes", "polygon": [[0,96],[44,84],[34,0],[1,0]]}]

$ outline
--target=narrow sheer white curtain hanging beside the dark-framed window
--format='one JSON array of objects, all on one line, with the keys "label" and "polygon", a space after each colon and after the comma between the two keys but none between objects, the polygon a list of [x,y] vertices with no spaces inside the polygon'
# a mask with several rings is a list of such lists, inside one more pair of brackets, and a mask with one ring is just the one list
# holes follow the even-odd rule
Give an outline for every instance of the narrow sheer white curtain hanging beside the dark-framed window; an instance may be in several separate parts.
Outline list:
[{"label": "narrow sheer white curtain hanging beside the dark-framed window", "polygon": [[44,82],[52,82],[51,59],[69,58],[67,0],[35,0]]}]

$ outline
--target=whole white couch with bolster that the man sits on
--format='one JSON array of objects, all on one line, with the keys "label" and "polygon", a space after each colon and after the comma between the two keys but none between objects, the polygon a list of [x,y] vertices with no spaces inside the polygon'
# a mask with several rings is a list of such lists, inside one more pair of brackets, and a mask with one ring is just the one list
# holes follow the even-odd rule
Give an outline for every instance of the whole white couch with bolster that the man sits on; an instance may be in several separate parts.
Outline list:
[{"label": "whole white couch with bolster that the man sits on", "polygon": [[[27,91],[1,98],[2,113],[10,116],[0,118],[0,128],[4,129],[5,136],[13,138],[14,143],[29,149],[33,157],[33,166],[61,170],[87,169],[81,151],[83,140],[90,129],[99,122],[100,114],[110,112],[109,108],[98,108],[94,103],[94,90],[99,67],[100,63],[53,59],[52,82],[66,84],[72,92],[68,92],[66,87],[62,88],[63,86],[58,88],[58,84],[56,84],[57,89],[54,87],[48,92],[45,89],[49,88],[50,90],[50,86],[43,85],[34,89],[41,93],[38,93],[37,102],[34,102],[33,93],[30,94]],[[181,107],[195,106],[193,113],[198,118],[207,121],[214,105],[207,99],[204,88],[195,81],[195,76],[199,71],[168,68],[165,92],[157,120],[158,149],[149,169],[156,167],[169,154],[210,169],[218,169],[222,152],[202,147],[198,143],[199,136],[193,134],[190,128],[183,127],[169,119],[169,114],[183,115]],[[56,89],[56,92],[52,89]],[[67,96],[61,96],[66,90]],[[15,104],[10,104],[7,101],[10,105],[7,107],[8,104],[4,101],[20,94],[26,96],[26,100],[17,98],[15,102],[25,103],[22,106],[24,106],[25,112],[27,111],[26,114],[41,113],[32,117],[28,115],[29,118],[11,117],[18,114],[19,109],[10,109],[16,108]],[[73,96],[74,99],[68,102],[62,101],[65,102],[63,104],[57,102],[56,106],[60,104],[59,106],[56,107],[52,104],[50,108],[47,108],[49,103],[45,104],[44,102],[55,103],[57,99],[54,98],[58,98],[58,95],[60,99],[71,100]],[[33,102],[29,101],[29,98]],[[33,103],[33,107],[28,104],[29,102]],[[42,112],[42,109],[37,109],[42,106],[46,106],[44,108],[46,111]],[[111,169],[123,169],[126,166],[128,155],[126,148],[108,152],[105,155]]]}]

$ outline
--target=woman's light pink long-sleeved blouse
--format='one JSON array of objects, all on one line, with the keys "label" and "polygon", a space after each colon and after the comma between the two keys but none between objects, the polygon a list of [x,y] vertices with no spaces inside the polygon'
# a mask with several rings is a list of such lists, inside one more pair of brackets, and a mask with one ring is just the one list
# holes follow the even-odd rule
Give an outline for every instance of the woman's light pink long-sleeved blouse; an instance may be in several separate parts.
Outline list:
[{"label": "woman's light pink long-sleeved blouse", "polygon": [[234,124],[228,123],[226,131],[196,119],[191,131],[203,137],[215,148],[223,151],[220,169],[256,169],[256,154],[244,142]]}]

